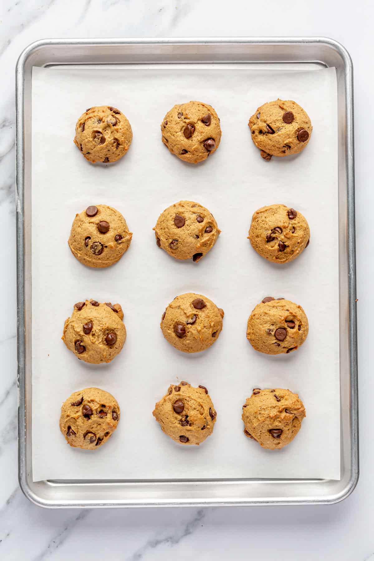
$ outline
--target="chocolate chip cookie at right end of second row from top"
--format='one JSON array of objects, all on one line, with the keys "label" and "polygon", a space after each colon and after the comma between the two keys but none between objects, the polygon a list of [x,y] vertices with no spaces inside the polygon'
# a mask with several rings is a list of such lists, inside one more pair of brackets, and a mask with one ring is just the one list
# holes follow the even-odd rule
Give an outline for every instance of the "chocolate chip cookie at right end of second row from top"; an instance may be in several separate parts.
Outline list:
[{"label": "chocolate chip cookie at right end of second row from top", "polygon": [[285,205],[262,206],[252,216],[248,240],[258,255],[273,263],[288,263],[309,245],[310,230],[303,215]]}]

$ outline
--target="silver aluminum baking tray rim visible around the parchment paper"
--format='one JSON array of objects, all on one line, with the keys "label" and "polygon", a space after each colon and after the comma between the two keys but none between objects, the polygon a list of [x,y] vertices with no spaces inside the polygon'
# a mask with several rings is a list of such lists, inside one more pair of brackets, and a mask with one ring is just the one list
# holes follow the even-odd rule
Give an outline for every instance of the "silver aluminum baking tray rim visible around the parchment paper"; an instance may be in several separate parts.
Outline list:
[{"label": "silver aluminum baking tray rim visible around the parchment paper", "polygon": [[[341,479],[100,480],[33,482],[31,464],[31,71],[64,65],[335,67],[338,85]],[[46,39],[16,67],[17,338],[19,481],[49,508],[331,504],[358,480],[353,68],[326,38]]]}]

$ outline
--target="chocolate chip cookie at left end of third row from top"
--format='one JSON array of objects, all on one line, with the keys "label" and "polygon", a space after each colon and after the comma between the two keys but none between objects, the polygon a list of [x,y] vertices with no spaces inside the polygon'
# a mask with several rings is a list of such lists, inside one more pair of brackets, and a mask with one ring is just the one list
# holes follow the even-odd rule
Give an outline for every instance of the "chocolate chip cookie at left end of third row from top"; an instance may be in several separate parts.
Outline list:
[{"label": "chocolate chip cookie at left end of third row from top", "polygon": [[62,341],[80,360],[110,362],[126,341],[123,311],[119,304],[96,300],[77,302],[63,327]]}]

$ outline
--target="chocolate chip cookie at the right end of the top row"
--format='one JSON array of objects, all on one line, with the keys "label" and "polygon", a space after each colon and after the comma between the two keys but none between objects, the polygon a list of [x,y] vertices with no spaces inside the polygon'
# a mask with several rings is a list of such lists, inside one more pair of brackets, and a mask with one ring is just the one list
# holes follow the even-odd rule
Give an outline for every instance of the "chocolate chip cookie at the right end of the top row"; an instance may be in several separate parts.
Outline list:
[{"label": "chocolate chip cookie at the right end of the top row", "polygon": [[313,128],[300,105],[282,99],[258,107],[248,126],[252,140],[265,160],[270,160],[272,155],[288,156],[301,152],[308,144]]}]

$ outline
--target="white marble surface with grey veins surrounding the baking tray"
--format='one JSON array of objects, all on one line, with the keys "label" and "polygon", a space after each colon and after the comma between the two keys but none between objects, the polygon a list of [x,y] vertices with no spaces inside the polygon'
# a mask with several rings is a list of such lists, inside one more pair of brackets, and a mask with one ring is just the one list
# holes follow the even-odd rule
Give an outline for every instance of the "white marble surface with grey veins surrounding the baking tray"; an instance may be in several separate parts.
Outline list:
[{"label": "white marble surface with grey veins surrounding the baking tray", "polygon": [[[372,501],[373,328],[372,21],[369,0],[266,4],[232,0],[2,0],[0,3],[0,559],[364,561],[374,553]],[[45,511],[17,485],[14,68],[27,44],[47,37],[325,35],[354,64],[361,476],[329,507]],[[321,329],[329,324],[322,316]],[[317,352],[317,350],[316,350]],[[96,553],[97,552],[97,553]]]}]

